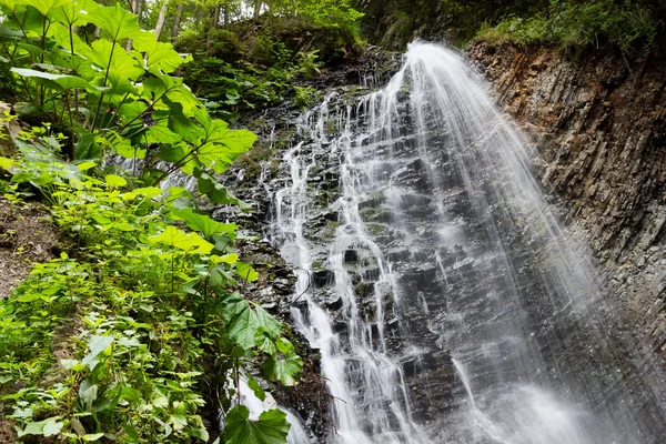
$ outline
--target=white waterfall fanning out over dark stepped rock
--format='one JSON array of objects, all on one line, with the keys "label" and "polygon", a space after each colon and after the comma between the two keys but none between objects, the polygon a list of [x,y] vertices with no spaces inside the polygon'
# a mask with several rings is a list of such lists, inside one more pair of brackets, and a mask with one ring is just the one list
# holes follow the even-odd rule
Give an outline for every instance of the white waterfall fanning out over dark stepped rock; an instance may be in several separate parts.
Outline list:
[{"label": "white waterfall fanning out over dark stepped rock", "polygon": [[647,371],[608,336],[527,143],[455,52],[413,43],[384,89],[326,97],[299,133],[273,240],[332,442],[658,442]]}]

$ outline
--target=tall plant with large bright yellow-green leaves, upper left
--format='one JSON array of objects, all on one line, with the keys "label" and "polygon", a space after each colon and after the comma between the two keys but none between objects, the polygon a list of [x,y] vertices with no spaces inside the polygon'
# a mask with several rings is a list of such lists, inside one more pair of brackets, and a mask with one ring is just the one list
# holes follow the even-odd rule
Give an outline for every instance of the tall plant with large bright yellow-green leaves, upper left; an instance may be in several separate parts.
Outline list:
[{"label": "tall plant with large bright yellow-green leaves, upper left", "polygon": [[[47,16],[33,19],[40,8]],[[2,10],[8,20],[0,39],[22,83],[17,93],[29,101],[17,109],[68,127],[70,159],[105,152],[143,159],[157,144],[155,158],[171,162],[164,175],[195,168],[220,173],[252,145],[249,131],[210,119],[182,79],[170,75],[186,59],[140,30],[135,16],[119,4],[44,0],[33,8],[6,1]],[[88,22],[102,30],[102,39],[90,44],[70,28]],[[135,48],[129,52],[128,38]]]}]

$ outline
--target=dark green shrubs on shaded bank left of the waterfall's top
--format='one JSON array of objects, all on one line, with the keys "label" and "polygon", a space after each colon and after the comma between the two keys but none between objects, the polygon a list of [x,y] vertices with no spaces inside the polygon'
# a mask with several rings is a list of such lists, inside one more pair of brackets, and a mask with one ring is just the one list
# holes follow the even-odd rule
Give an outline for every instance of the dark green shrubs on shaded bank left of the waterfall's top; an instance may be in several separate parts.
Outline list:
[{"label": "dark green shrubs on shaded bank left of the waterfall's top", "polygon": [[[236,120],[245,111],[278,104],[297,78],[313,78],[325,63],[357,53],[359,39],[334,22],[303,16],[241,22],[209,34],[185,32],[176,48],[193,60],[185,79],[212,113]],[[300,107],[300,104],[299,104]]]}]

